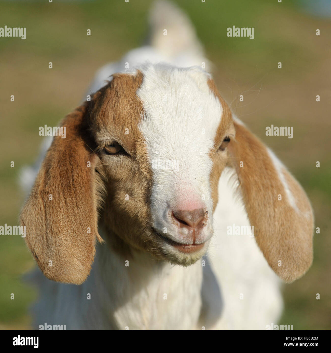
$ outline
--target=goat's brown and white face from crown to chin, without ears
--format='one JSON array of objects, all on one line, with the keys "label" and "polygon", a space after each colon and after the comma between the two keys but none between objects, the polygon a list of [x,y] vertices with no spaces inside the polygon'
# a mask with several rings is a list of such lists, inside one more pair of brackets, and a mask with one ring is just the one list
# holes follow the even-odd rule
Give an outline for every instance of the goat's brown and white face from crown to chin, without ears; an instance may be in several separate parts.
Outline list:
[{"label": "goat's brown and white face from crown to chin, without ears", "polygon": [[91,128],[107,189],[105,226],[122,246],[194,263],[213,233],[234,137],[226,103],[205,72],[164,66],[114,75],[97,95]]}]

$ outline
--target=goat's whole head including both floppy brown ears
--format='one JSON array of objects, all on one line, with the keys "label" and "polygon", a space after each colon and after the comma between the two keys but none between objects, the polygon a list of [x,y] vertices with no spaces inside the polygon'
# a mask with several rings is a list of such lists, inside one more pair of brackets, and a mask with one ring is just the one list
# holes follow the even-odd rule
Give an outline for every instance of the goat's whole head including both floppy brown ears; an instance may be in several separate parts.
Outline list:
[{"label": "goat's whole head including both floppy brown ears", "polygon": [[[86,279],[95,240],[101,240],[98,208],[115,250],[134,248],[155,259],[193,264],[205,253],[213,233],[218,179],[225,166],[237,167],[238,158],[253,158],[253,165],[243,173],[237,168],[237,174],[250,220],[261,225],[255,223],[256,232],[257,228],[261,232],[256,240],[270,266],[286,280],[309,267],[311,235],[307,232],[311,233],[312,216],[299,232],[302,235],[289,235],[284,244],[278,243],[273,228],[266,230],[270,213],[279,207],[273,197],[286,187],[264,146],[233,122],[230,109],[204,71],[144,65],[135,74],[115,74],[62,125],[67,127],[67,137],[53,139],[22,211],[27,244],[48,278],[69,283]],[[257,153],[267,170],[256,178],[255,168],[261,167]],[[270,187],[265,178],[270,179]],[[265,192],[259,190],[259,181]],[[288,183],[296,182],[289,179]],[[261,195],[250,196],[247,188]],[[293,184],[291,190],[297,188]],[[265,194],[269,209],[261,221],[252,204]],[[299,197],[305,197],[302,191]],[[301,204],[300,211],[311,212],[306,199]],[[288,208],[280,210],[280,217],[286,218],[286,212],[294,226],[296,219]],[[307,238],[301,245],[306,260],[300,256],[302,264],[293,264],[291,251],[303,237]],[[284,256],[291,263],[282,272],[277,259]]]}]

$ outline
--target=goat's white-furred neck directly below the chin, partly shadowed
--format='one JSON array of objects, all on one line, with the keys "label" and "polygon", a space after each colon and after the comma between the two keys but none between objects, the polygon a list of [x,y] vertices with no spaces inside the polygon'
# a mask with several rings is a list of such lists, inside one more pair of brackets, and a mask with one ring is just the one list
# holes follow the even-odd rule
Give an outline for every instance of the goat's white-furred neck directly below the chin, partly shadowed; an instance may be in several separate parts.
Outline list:
[{"label": "goat's white-furred neck directly below the chin, partly shadowed", "polygon": [[93,266],[99,302],[110,326],[125,329],[192,329],[201,309],[201,263],[184,268],[147,252],[126,258],[98,246]]}]

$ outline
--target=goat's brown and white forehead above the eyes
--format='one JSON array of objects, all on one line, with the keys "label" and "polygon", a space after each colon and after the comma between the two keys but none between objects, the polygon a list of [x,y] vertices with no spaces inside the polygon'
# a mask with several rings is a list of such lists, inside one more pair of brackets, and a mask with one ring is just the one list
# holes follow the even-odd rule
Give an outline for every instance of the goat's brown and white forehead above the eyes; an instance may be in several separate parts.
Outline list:
[{"label": "goat's brown and white forehead above the eyes", "polygon": [[130,152],[144,144],[159,158],[206,158],[232,121],[210,75],[199,68],[150,65],[115,74],[96,94],[95,107],[91,127],[98,143],[117,140]]}]

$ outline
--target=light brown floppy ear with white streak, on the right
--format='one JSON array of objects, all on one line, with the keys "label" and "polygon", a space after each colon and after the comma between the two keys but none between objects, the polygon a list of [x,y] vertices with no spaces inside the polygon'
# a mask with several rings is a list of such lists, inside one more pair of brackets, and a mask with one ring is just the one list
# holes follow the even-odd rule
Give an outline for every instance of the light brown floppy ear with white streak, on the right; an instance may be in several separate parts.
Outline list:
[{"label": "light brown floppy ear with white streak, on the right", "polygon": [[236,137],[229,143],[229,154],[256,242],[275,273],[294,281],[313,259],[309,200],[277,157],[244,126],[234,125]]}]

